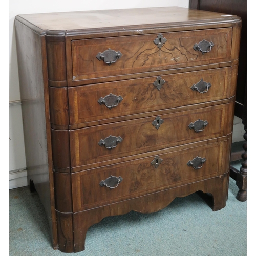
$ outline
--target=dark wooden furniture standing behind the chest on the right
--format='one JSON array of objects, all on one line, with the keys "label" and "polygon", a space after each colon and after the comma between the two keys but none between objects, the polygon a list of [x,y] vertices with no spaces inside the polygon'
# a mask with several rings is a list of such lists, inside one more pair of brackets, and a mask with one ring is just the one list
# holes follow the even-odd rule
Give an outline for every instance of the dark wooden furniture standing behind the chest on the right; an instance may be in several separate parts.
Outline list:
[{"label": "dark wooden furniture standing behind the chest on the right", "polygon": [[[240,154],[234,153],[233,160],[241,159],[242,166],[237,170],[230,165],[230,177],[237,181],[239,188],[237,199],[246,201],[247,199],[247,1],[246,0],[189,0],[190,9],[198,9],[211,12],[229,13],[238,15],[242,19],[241,41],[239,53],[239,67],[237,78],[236,102],[234,115],[242,119],[244,124],[245,143],[244,152],[241,148]],[[239,157],[237,157],[239,156]]]}]

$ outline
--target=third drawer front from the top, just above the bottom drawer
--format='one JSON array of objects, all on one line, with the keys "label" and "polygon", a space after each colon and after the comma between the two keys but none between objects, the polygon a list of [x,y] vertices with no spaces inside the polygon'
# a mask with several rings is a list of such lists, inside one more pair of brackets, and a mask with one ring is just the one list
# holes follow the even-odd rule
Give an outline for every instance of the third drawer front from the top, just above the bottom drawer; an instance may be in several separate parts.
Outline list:
[{"label": "third drawer front from the top, just above the bottom drawer", "polygon": [[[224,136],[230,107],[223,104],[70,131],[71,167]],[[199,125],[201,132],[189,128],[198,119],[208,122],[204,128]]]}]

